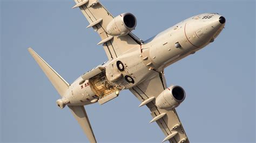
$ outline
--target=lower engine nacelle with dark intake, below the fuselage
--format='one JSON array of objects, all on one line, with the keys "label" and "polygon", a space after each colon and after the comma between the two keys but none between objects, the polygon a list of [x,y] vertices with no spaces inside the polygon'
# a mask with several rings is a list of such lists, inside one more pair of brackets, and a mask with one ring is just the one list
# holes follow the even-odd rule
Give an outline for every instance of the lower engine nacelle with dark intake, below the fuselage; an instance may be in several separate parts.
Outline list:
[{"label": "lower engine nacelle with dark intake, below the fuselage", "polygon": [[176,108],[186,97],[185,90],[177,85],[165,89],[156,99],[156,106],[160,109]]}]

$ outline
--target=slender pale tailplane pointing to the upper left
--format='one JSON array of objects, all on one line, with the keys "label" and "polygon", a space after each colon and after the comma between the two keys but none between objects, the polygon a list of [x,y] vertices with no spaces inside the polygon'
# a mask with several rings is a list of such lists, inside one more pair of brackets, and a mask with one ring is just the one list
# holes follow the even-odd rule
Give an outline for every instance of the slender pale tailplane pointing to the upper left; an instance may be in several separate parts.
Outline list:
[{"label": "slender pale tailplane pointing to the upper left", "polygon": [[54,69],[51,68],[32,48],[28,48],[29,53],[36,60],[37,64],[44,71],[45,75],[51,81],[53,87],[58,91],[60,96],[64,96],[69,88],[69,83],[64,80]]}]

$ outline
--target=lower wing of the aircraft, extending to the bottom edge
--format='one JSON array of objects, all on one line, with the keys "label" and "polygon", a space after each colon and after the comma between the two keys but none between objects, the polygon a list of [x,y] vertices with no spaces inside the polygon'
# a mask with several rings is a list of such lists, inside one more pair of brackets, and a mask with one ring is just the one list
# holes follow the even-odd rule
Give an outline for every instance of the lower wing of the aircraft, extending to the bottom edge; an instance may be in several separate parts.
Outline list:
[{"label": "lower wing of the aircraft, extending to the bottom edge", "polygon": [[[161,74],[156,71],[154,76],[138,84],[136,87],[133,87],[130,91],[143,103],[146,99],[153,97],[157,98],[157,96],[166,88],[164,73]],[[146,106],[150,109],[153,119],[156,119],[157,116],[161,117],[159,115],[164,115],[156,120],[166,136],[163,141],[189,142],[175,109],[159,109],[155,105],[155,100],[147,103]]]}]

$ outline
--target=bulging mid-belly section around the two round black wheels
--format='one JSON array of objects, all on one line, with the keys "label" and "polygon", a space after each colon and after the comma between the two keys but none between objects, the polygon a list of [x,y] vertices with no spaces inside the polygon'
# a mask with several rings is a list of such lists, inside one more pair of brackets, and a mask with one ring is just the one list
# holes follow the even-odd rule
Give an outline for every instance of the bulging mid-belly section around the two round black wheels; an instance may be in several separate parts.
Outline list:
[{"label": "bulging mid-belly section around the two round black wheels", "polygon": [[[129,89],[134,85],[142,82],[142,80],[151,72],[149,67],[143,63],[140,56],[140,49],[134,47],[129,52],[114,59],[106,66],[106,77],[113,86],[119,89]],[[122,63],[124,69],[120,70],[117,63]],[[114,78],[114,77],[119,78]],[[114,78],[114,79],[113,79]],[[131,81],[127,80],[130,78]]]}]

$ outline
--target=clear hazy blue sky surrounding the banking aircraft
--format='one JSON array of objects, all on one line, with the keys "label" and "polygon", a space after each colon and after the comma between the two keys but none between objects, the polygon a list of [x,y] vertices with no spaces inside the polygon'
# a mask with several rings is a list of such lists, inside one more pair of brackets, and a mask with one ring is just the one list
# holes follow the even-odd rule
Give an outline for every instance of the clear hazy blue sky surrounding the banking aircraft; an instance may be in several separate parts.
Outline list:
[{"label": "clear hazy blue sky surrounding the banking aircraft", "polygon": [[[116,16],[133,13],[146,40],[188,17],[218,12],[226,26],[215,41],[165,69],[167,84],[185,88],[177,108],[191,142],[255,141],[254,1],[102,1]],[[68,108],[27,51],[32,47],[66,81],[107,60],[72,0],[1,1],[1,141],[84,142]],[[130,91],[86,106],[98,142],[160,142],[164,134]]]}]

